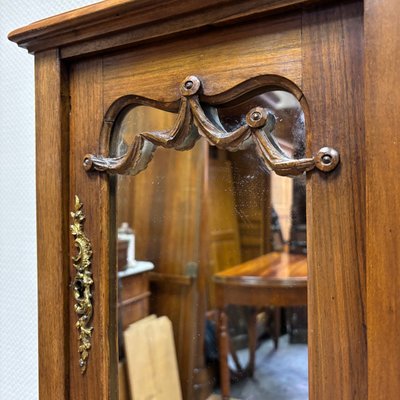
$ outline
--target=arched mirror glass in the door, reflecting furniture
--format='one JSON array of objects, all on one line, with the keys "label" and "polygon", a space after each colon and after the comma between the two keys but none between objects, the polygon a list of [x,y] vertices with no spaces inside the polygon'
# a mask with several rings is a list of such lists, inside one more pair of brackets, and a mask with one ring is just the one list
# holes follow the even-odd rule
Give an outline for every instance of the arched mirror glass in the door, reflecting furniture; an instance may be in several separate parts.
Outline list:
[{"label": "arched mirror glass in the door, reflecting furniture", "polygon": [[[291,94],[267,92],[211,113],[232,130],[255,106],[274,113],[285,152],[304,156],[304,114]],[[167,129],[174,119],[149,107],[127,110],[114,131],[113,155],[124,154],[138,133]],[[306,274],[305,177],[268,174],[251,142],[228,152],[202,138],[191,151],[158,148],[145,171],[117,180],[120,399],[218,399],[223,324],[216,286],[235,282],[256,293],[248,282],[265,280],[267,270],[278,283]],[[288,273],[291,262],[297,264]],[[224,307],[230,395],[307,399],[305,307],[247,304],[246,296]]]}]

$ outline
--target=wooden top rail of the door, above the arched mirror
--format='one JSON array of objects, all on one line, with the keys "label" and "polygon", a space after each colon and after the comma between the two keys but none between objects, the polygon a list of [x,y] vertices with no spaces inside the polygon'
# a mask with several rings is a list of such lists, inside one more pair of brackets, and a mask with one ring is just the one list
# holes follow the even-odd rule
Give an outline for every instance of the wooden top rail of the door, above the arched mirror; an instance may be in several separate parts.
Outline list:
[{"label": "wooden top rail of the door, above the arched mirror", "polygon": [[206,95],[266,73],[300,84],[300,29],[298,16],[275,17],[106,57],[105,105],[126,94],[176,100],[193,74]]}]

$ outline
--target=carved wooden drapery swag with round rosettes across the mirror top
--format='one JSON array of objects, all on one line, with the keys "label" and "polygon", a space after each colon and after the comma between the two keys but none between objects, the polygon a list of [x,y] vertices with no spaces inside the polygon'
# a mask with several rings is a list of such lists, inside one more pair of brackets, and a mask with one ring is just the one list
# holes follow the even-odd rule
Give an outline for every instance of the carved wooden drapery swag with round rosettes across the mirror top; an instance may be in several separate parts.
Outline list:
[{"label": "carved wooden drapery swag with round rosettes across the mirror top", "polygon": [[251,109],[244,125],[227,132],[213,115],[213,108],[200,104],[201,86],[196,76],[188,76],[181,83],[179,112],[170,130],[140,133],[126,153],[119,157],[87,154],[83,160],[86,171],[136,175],[147,167],[157,146],[189,150],[200,137],[213,146],[230,151],[245,149],[250,142],[254,142],[265,166],[281,176],[301,175],[314,168],[329,172],[338,165],[339,153],[330,147],[322,147],[309,158],[288,157],[272,133],[276,122],[274,115],[262,107]]}]

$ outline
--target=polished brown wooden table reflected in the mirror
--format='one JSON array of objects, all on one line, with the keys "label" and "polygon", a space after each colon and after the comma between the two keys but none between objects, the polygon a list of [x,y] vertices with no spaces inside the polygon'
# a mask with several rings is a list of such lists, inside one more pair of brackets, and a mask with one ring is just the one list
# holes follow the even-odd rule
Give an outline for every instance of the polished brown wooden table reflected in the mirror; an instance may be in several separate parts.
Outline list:
[{"label": "polished brown wooden table reflected in the mirror", "polygon": [[[229,400],[228,305],[289,307],[307,304],[307,257],[272,252],[213,276],[218,308],[219,361],[222,399]],[[254,371],[256,317],[249,321],[249,374]]]}]

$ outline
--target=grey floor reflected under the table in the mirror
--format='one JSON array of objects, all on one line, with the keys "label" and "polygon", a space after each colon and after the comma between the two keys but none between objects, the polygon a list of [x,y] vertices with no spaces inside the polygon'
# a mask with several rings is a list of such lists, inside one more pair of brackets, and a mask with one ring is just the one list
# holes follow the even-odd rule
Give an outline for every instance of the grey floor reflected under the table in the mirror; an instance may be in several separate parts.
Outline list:
[{"label": "grey floor reflected under the table in the mirror", "polygon": [[[247,350],[239,351],[238,356],[245,365]],[[256,352],[254,377],[232,384],[231,397],[240,400],[307,400],[307,345],[289,344],[287,335],[280,338],[277,351],[273,349],[272,340],[264,342]],[[212,399],[218,400],[219,396]]]}]

